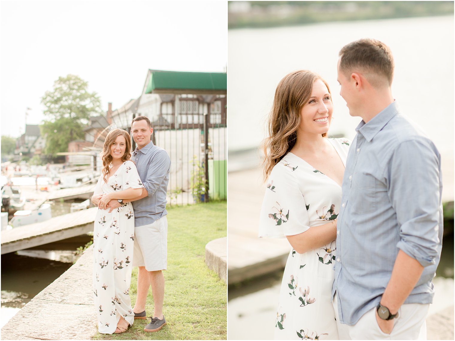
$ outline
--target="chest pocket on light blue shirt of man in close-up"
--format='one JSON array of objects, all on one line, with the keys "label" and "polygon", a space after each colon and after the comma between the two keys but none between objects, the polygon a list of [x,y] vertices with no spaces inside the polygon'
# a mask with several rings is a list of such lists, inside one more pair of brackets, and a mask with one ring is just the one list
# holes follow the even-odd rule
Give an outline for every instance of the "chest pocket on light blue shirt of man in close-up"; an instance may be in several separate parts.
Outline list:
[{"label": "chest pocket on light blue shirt of man in close-up", "polygon": [[353,174],[349,201],[355,213],[371,213],[378,208],[379,184],[368,171]]}]

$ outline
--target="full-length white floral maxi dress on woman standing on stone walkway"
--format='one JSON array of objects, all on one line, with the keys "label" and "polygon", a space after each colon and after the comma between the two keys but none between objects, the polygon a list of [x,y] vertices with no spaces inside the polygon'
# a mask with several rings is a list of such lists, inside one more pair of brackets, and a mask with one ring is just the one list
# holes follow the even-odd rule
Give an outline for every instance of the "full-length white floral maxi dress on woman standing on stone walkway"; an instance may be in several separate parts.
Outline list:
[{"label": "full-length white floral maxi dress on woman standing on stone walkway", "polygon": [[[143,188],[136,165],[126,161],[104,182],[101,174],[94,194],[128,188]],[[98,209],[93,231],[93,298],[98,315],[98,331],[112,334],[120,316],[133,324],[129,296],[134,242],[134,213],[131,203],[109,213]]]}]

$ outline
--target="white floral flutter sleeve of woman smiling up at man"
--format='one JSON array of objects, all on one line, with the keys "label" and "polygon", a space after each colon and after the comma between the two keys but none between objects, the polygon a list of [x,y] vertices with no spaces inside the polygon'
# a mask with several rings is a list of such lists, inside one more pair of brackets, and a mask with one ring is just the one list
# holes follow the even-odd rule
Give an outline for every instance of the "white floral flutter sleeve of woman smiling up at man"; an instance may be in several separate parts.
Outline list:
[{"label": "white floral flutter sleeve of woman smiling up at man", "polygon": [[284,238],[309,229],[307,204],[294,171],[283,163],[273,168],[266,184],[259,237]]}]

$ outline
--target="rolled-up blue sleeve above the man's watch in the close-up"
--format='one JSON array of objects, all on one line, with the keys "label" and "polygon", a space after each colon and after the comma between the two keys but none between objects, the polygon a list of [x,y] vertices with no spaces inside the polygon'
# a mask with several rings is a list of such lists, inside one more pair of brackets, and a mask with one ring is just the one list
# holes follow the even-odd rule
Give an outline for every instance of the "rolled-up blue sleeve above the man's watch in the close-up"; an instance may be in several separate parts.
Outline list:
[{"label": "rolled-up blue sleeve above the man's watch in the close-up", "polygon": [[399,144],[388,163],[389,198],[399,224],[397,247],[422,266],[438,255],[440,155],[428,140]]}]

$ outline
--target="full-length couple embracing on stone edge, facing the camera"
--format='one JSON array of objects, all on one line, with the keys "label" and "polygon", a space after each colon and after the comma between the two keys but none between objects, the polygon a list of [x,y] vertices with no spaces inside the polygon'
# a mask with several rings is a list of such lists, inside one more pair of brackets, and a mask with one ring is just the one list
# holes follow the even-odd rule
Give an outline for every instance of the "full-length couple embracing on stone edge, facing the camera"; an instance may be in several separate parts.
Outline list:
[{"label": "full-length couple embracing on stone edge, facing the camera", "polygon": [[[166,192],[171,161],[153,145],[150,120],[131,122],[131,137],[114,129],[102,151],[103,169],[92,203],[98,206],[93,235],[93,294],[102,334],[123,333],[134,319],[147,318],[145,305],[152,286],[154,311],[144,331],[159,331],[163,316],[167,268]],[[131,270],[138,266],[137,297],[131,308]]]}]

